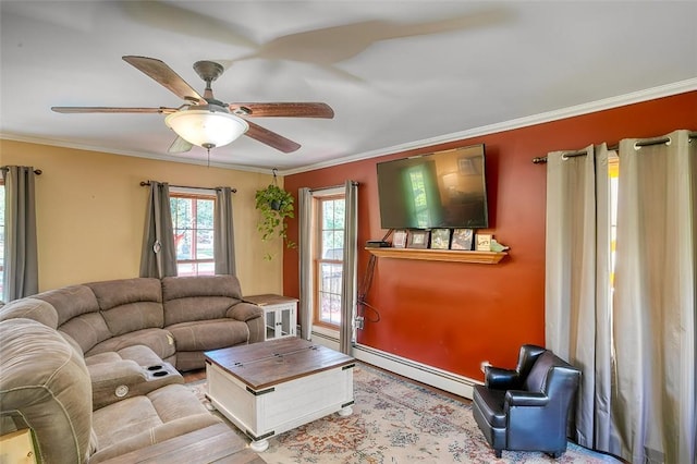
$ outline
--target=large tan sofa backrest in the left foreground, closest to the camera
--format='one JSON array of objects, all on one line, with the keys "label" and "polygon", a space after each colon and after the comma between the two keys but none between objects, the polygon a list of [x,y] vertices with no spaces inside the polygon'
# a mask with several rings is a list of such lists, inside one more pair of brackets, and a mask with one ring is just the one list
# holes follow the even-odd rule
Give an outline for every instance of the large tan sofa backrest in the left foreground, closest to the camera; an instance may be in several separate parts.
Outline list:
[{"label": "large tan sofa backrest in the left foreground, closest to the camera", "polygon": [[85,362],[56,330],[30,319],[0,322],[0,420],[30,425],[39,462],[87,462],[91,383]]}]

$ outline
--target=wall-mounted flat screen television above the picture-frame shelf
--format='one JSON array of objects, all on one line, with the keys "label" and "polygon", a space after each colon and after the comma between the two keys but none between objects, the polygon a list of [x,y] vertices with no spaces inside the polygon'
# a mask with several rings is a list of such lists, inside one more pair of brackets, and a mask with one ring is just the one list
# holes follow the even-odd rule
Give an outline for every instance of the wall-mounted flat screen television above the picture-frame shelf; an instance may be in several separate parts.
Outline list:
[{"label": "wall-mounted flat screen television above the picture-frame shelf", "polygon": [[489,227],[485,146],[378,163],[382,229]]}]

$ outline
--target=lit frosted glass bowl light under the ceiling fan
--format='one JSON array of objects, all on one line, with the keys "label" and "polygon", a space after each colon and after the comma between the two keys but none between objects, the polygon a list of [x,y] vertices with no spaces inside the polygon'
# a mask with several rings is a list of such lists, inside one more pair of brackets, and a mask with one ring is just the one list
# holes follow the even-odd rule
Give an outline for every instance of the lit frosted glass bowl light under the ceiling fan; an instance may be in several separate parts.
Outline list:
[{"label": "lit frosted glass bowl light under the ceiling fan", "polygon": [[178,111],[164,123],[189,144],[208,149],[228,145],[249,129],[242,118],[210,109]]}]

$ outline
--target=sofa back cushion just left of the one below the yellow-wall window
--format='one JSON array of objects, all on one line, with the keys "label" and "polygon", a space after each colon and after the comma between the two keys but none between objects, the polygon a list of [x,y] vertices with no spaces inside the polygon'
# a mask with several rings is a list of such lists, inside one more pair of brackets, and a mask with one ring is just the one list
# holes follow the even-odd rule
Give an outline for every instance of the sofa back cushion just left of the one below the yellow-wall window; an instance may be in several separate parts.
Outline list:
[{"label": "sofa back cushion just left of the one below the yellow-wall window", "polygon": [[162,328],[164,318],[159,279],[121,279],[85,285],[94,292],[112,335]]}]

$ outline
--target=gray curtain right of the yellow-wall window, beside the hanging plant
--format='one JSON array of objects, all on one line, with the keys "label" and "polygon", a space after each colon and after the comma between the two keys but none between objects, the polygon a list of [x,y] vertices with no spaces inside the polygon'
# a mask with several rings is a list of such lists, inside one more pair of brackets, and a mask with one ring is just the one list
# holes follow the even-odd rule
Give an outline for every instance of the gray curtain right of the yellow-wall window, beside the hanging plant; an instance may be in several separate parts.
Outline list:
[{"label": "gray curtain right of the yellow-wall window, beside the hanging plant", "polygon": [[213,259],[217,274],[235,276],[235,237],[232,221],[232,188],[216,188],[213,211]]}]

